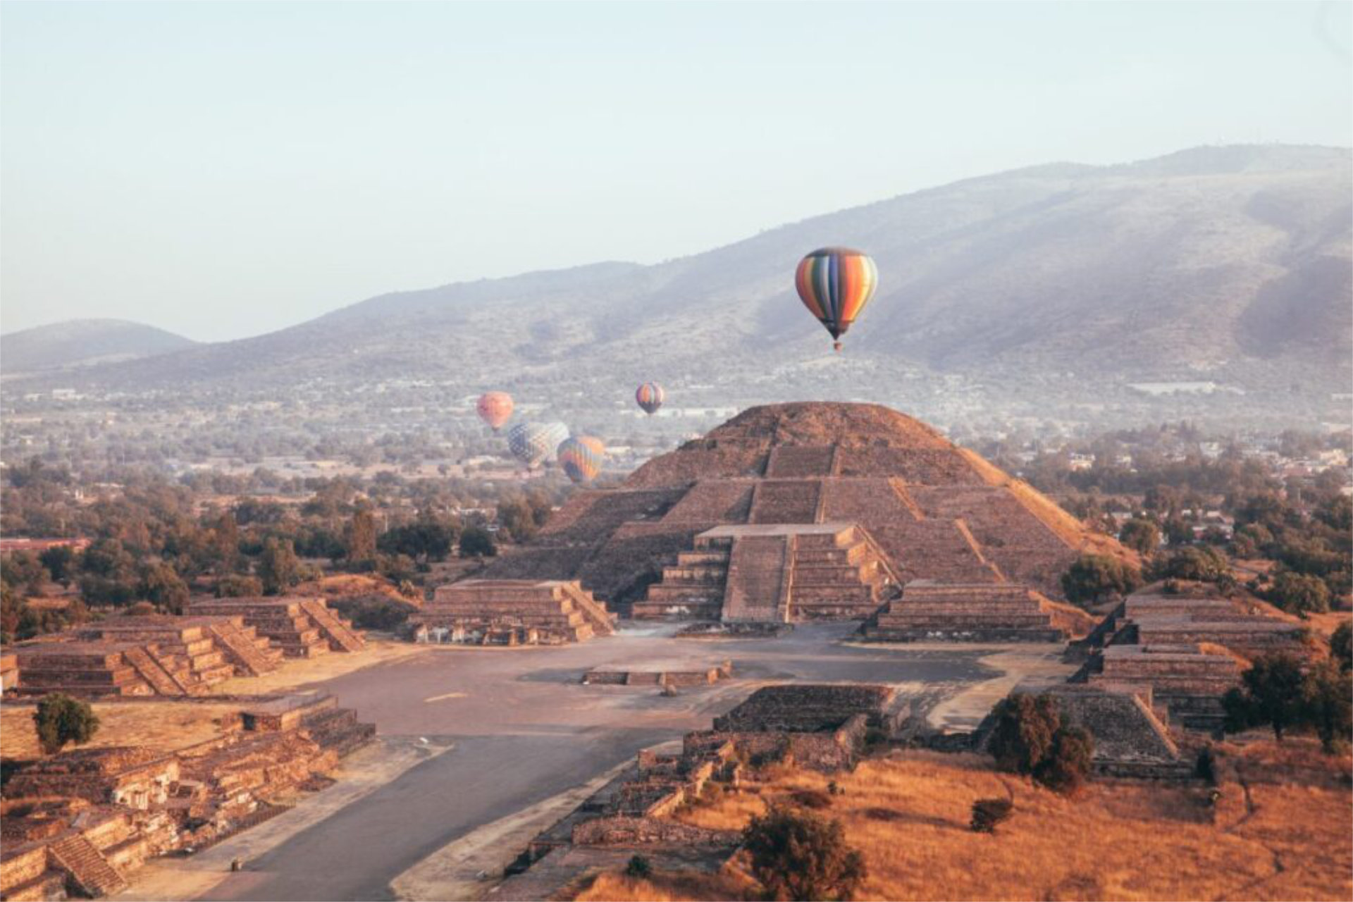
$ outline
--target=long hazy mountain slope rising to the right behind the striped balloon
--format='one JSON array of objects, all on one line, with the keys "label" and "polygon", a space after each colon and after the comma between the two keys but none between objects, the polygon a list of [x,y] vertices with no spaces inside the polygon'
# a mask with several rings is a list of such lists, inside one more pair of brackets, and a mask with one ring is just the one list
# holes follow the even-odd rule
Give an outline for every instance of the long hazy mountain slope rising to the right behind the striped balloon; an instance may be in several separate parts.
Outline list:
[{"label": "long hazy mountain slope rising to the right behind the striped balloon", "polygon": [[[793,291],[800,256],[871,253],[879,293],[851,365],[1017,387],[1208,379],[1348,381],[1350,151],[1200,147],[1116,166],[1055,164],[782,226],[652,266],[384,295],[308,323],[106,366],[106,384],[637,376],[736,384],[819,366],[827,337]],[[1285,381],[1284,381],[1285,384]],[[1323,391],[1331,391],[1329,388]]]}]

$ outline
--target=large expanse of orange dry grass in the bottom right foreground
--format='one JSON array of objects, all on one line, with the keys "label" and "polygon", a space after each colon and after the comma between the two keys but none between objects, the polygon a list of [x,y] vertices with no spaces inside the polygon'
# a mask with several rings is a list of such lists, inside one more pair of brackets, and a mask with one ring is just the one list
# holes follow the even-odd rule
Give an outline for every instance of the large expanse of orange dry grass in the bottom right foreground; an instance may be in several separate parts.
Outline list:
[{"label": "large expanse of orange dry grass in the bottom right foreground", "polygon": [[[1350,898],[1348,759],[1323,757],[1307,741],[1281,749],[1256,742],[1235,756],[1249,784],[1226,790],[1226,802],[1239,798],[1237,818],[1214,818],[1201,784],[1104,780],[1066,799],[993,772],[988,759],[932,752],[866,761],[838,775],[843,794],[825,814],[839,818],[865,853],[867,899]],[[1258,782],[1262,774],[1270,782]],[[679,817],[739,829],[767,801],[824,790],[828,779],[782,772]],[[996,834],[967,829],[974,801],[1008,794],[1015,814]],[[729,897],[728,886],[704,891],[664,880],[625,883],[610,875],[579,898]]]}]

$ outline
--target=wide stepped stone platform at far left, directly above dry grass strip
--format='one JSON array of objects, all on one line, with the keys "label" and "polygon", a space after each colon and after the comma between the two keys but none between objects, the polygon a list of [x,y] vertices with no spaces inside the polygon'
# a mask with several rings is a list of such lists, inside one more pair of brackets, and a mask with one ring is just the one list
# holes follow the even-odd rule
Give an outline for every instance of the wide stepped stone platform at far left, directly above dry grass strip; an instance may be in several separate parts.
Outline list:
[{"label": "wide stepped stone platform at far left, directly above dry grass strip", "polygon": [[22,694],[199,696],[276,669],[281,652],[241,617],[111,617],[15,648]]}]

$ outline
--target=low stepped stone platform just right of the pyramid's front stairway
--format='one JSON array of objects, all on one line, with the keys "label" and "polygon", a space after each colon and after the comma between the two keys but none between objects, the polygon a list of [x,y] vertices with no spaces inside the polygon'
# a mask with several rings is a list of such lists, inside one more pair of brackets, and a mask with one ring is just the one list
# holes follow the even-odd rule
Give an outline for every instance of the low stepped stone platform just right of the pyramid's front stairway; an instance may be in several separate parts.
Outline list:
[{"label": "low stepped stone platform just right of the pyramid's front stairway", "polygon": [[865,625],[863,634],[881,642],[1066,640],[1046,600],[1024,586],[934,580],[908,583],[901,598]]}]

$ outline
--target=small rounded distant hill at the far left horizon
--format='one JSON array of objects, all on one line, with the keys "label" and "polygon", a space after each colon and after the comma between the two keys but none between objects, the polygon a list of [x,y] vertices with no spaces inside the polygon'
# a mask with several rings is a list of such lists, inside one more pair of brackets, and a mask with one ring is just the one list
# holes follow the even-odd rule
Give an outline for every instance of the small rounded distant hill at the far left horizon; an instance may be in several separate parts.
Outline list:
[{"label": "small rounded distant hill at the far left horizon", "polygon": [[198,342],[126,319],[72,319],[0,335],[5,375],[166,354]]}]

